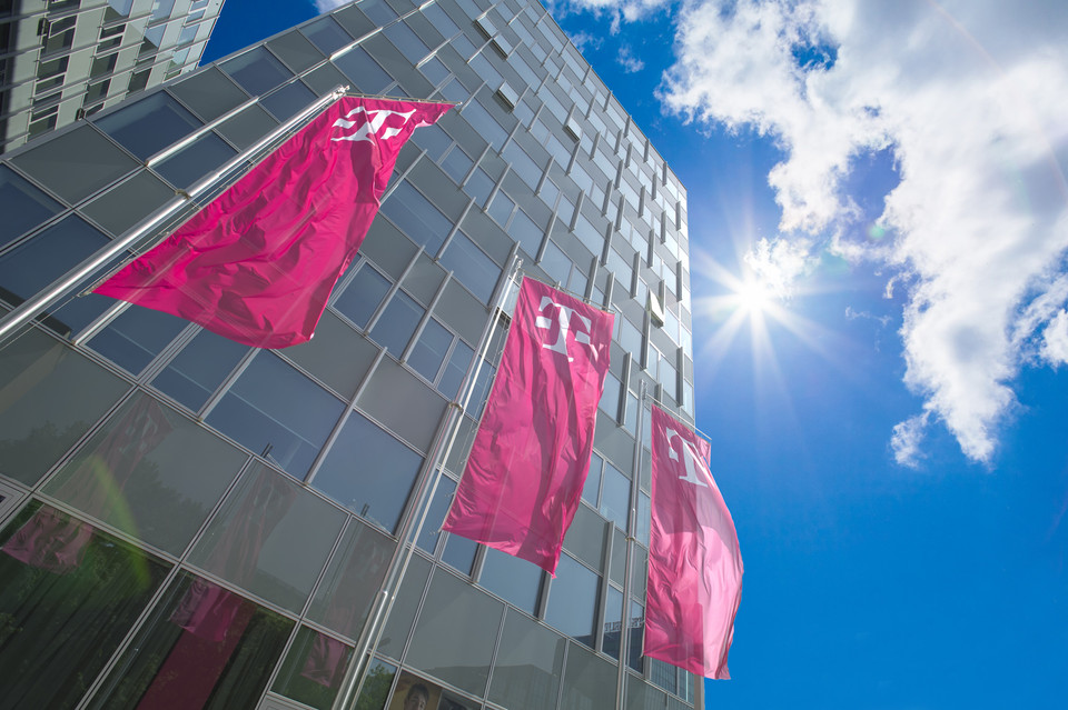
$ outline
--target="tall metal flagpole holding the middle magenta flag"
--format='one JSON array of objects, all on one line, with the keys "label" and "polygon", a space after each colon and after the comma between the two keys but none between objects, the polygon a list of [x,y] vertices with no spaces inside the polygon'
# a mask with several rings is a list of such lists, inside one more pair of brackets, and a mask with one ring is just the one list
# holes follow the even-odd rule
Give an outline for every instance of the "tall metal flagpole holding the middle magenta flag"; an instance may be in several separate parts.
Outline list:
[{"label": "tall metal flagpole holding the middle magenta flag", "polygon": [[[400,588],[400,581],[408,569],[408,562],[415,551],[416,541],[423,532],[423,524],[426,522],[426,516],[429,512],[434,494],[437,492],[437,484],[442,480],[445,463],[452,453],[453,444],[456,442],[456,436],[459,433],[459,424],[467,404],[471,402],[471,396],[475,391],[475,384],[478,381],[478,373],[482,370],[482,363],[485,361],[486,351],[490,349],[490,341],[493,339],[493,332],[504,312],[504,306],[507,303],[512,293],[512,287],[515,284],[515,277],[518,273],[522,260],[513,257],[508,267],[508,277],[504,288],[494,302],[494,316],[486,320],[485,330],[474,360],[467,368],[466,381],[461,396],[456,401],[449,402],[448,414],[445,424],[442,427],[437,440],[434,442],[434,449],[431,460],[433,464],[427,469],[427,473],[421,479],[416,496],[415,506],[405,520],[400,531],[397,548],[393,558],[389,560],[389,568],[386,571],[383,587],[375,598],[372,612],[368,614],[368,622],[364,624],[364,630],[359,634],[356,649],[353,653],[353,660],[345,671],[345,678],[342,680],[342,687],[338,690],[337,698],[334,701],[333,710],[345,710],[355,707],[359,698],[359,691],[363,688],[364,679],[367,676],[367,669],[370,667],[370,659],[378,643],[382,640],[382,633],[389,620],[389,613],[393,611],[393,604],[397,599],[397,592]],[[444,446],[443,446],[444,444]]]}]

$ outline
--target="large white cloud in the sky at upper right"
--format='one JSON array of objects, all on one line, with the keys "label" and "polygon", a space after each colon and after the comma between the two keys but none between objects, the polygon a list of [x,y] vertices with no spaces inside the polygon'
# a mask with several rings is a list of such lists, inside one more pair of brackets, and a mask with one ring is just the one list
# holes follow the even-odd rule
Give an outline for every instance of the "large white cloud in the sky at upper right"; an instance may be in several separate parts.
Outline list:
[{"label": "large white cloud in the sky at upper right", "polygon": [[[1020,367],[1065,353],[1066,30],[1056,0],[691,0],[678,19],[668,106],[773,137],[783,234],[872,260],[903,294],[904,381],[924,412],[893,432],[901,461],[929,417],[989,461]],[[842,184],[883,149],[901,182],[871,246],[843,237],[860,230]]]}]

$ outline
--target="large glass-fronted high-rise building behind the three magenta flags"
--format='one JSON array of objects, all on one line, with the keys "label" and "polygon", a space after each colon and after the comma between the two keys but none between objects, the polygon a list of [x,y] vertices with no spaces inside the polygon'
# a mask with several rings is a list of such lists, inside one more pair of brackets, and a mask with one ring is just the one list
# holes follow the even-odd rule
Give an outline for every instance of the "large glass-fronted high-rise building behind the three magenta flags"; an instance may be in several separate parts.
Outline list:
[{"label": "large glass-fronted high-rise building behind the three magenta flags", "polygon": [[[627,709],[693,707],[693,677],[641,654],[647,451],[635,466],[643,383],[693,421],[685,191],[534,0],[362,0],[10,151],[0,316],[165,234],[219,191],[191,186],[233,182],[338,86],[458,106],[400,153],[310,342],[79,296],[107,264],[0,343],[0,707],[330,707],[421,491],[357,707],[607,709],[620,678]],[[616,313],[555,578],[438,531],[514,256]]]}]

